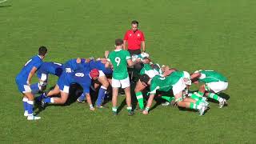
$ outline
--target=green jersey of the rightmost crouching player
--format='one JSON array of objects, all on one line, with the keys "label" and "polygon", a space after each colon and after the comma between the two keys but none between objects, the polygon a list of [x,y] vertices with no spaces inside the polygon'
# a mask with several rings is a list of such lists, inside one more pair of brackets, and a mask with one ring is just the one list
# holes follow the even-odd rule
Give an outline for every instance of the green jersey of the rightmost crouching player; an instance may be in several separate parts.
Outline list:
[{"label": "green jersey of the rightmost crouching player", "polygon": [[226,77],[214,70],[199,70],[198,72],[201,74],[200,78],[198,78],[199,82],[227,82]]}]

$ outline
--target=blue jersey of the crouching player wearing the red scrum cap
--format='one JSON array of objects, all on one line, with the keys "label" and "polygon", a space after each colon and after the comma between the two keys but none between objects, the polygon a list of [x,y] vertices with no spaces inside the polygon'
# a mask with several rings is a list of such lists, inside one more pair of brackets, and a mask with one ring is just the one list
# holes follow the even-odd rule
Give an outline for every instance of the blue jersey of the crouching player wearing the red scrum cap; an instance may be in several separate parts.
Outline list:
[{"label": "blue jersey of the crouching player wearing the red scrum cap", "polygon": [[82,86],[83,94],[90,94],[91,78],[85,70],[65,73],[58,78],[59,89],[64,92],[66,92],[65,89],[69,89],[71,83],[78,83],[80,86]]}]

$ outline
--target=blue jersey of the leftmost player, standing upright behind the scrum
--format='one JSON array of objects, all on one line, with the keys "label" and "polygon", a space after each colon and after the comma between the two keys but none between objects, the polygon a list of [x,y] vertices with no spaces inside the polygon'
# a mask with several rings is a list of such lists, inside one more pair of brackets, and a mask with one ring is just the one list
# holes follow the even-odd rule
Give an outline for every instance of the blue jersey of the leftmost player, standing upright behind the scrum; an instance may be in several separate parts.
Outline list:
[{"label": "blue jersey of the leftmost player, standing upright behind the scrum", "polygon": [[42,59],[39,55],[36,55],[32,58],[30,58],[29,61],[26,62],[20,73],[16,77],[16,81],[23,82],[27,80],[30,71],[33,69],[33,67],[36,67],[37,69],[42,65]]}]

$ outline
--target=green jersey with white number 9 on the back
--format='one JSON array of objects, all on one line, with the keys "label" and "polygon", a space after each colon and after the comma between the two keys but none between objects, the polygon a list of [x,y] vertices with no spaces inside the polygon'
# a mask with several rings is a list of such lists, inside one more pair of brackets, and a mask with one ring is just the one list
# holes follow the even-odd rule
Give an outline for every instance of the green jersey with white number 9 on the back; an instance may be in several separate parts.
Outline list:
[{"label": "green jersey with white number 9 on the back", "polygon": [[130,53],[127,50],[114,50],[111,51],[108,61],[113,65],[113,78],[122,80],[127,78],[127,60],[130,59]]}]

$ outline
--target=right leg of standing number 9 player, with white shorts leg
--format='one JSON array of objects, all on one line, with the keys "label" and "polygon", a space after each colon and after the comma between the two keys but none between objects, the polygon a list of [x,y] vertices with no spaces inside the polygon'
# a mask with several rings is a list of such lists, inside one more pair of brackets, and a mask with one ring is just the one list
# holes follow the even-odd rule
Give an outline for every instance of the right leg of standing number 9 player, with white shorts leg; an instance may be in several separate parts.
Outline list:
[{"label": "right leg of standing number 9 player, with white shorts leg", "polygon": [[133,115],[134,112],[132,111],[131,96],[130,96],[130,78],[127,77],[125,79],[122,79],[120,82],[122,85],[122,89],[125,90],[128,114]]}]

